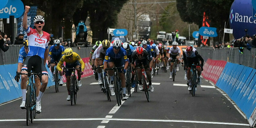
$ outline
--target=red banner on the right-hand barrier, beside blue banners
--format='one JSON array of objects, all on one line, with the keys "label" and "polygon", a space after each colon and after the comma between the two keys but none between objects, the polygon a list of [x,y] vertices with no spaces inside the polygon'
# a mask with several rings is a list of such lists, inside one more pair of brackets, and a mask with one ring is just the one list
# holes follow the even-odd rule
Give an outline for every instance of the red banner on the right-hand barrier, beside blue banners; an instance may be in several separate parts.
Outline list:
[{"label": "red banner on the right-hand barrier, beside blue banners", "polygon": [[208,58],[206,63],[204,64],[204,71],[202,71],[202,76],[204,77],[204,79],[212,81],[214,84],[216,84],[220,77],[220,74],[226,66],[226,63],[226,61],[212,60]]}]

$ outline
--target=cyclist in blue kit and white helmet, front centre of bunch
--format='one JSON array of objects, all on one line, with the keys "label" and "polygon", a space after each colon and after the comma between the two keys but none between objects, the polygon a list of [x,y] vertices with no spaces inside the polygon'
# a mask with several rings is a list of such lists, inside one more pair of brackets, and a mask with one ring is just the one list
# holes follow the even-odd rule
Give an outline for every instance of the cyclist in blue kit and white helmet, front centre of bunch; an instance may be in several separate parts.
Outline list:
[{"label": "cyclist in blue kit and white helmet, front centre of bunch", "polygon": [[[118,69],[118,76],[121,80],[121,86],[123,90],[123,100],[127,100],[126,97],[126,88],[125,88],[125,79],[124,79],[124,73],[126,72],[126,69],[128,67],[128,59],[126,55],[126,51],[124,48],[121,47],[121,41],[115,40],[112,47],[109,47],[106,51],[106,56],[104,59],[104,70],[109,66],[109,68],[121,67],[124,66],[124,71],[121,71],[121,69]],[[114,81],[114,72],[113,70],[108,71],[110,76],[111,85],[109,86],[112,88],[113,91],[113,81]],[[113,95],[111,95],[113,96]]]}]

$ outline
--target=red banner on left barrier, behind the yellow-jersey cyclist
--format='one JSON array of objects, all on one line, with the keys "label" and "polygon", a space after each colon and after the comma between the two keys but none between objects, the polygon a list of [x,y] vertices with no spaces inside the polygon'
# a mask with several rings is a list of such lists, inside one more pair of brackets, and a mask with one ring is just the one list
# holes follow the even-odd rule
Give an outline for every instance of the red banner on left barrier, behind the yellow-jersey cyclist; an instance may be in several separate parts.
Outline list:
[{"label": "red banner on left barrier, behind the yellow-jersey cyclist", "polygon": [[[85,68],[84,68],[84,71],[83,71],[84,74],[81,76],[81,78],[93,75],[93,70],[91,69],[92,66],[90,65],[89,57],[82,58],[82,60],[85,64]],[[66,65],[65,62],[63,64]],[[76,77],[78,78],[77,72],[75,72],[75,74],[76,74]],[[64,83],[66,83],[66,76],[65,75],[63,75],[62,80],[63,80]]]}]

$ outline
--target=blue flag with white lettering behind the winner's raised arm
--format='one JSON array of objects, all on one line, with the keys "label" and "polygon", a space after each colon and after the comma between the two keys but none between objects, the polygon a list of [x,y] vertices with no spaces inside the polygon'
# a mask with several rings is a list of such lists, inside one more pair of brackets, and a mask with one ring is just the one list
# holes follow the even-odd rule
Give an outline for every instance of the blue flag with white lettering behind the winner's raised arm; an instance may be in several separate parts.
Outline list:
[{"label": "blue flag with white lettering behind the winner's raised arm", "polygon": [[[27,25],[30,27],[30,28],[34,28],[34,18],[36,17],[36,10],[37,10],[37,6],[30,6],[30,9],[29,9],[29,13],[28,13],[28,20],[27,20]],[[17,23],[17,36],[19,34],[24,34],[24,39],[27,39],[27,33],[25,33],[24,29],[23,29],[23,26],[22,26],[22,21],[23,21],[23,15],[24,13],[22,14],[22,17],[19,17],[18,18],[18,23]]]}]

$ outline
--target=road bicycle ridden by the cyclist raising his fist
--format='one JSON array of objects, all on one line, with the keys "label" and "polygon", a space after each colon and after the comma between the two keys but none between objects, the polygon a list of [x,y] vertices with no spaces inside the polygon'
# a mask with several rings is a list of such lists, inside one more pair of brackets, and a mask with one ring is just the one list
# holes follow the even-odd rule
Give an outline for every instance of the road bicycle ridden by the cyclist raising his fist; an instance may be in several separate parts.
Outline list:
[{"label": "road bicycle ridden by the cyclist raising his fist", "polygon": [[26,89],[26,124],[29,125],[29,120],[33,123],[34,118],[36,118],[36,85],[34,83],[34,77],[38,76],[40,78],[40,82],[42,82],[42,73],[19,73],[19,75],[27,75],[28,82],[27,82],[27,89]]}]

